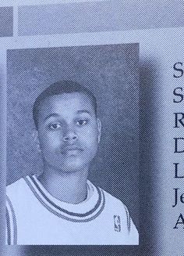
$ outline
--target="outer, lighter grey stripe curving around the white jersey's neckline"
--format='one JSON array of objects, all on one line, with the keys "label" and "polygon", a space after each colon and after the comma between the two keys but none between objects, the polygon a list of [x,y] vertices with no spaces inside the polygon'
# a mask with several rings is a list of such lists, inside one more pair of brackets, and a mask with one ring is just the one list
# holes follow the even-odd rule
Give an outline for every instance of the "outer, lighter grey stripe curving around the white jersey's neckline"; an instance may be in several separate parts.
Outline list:
[{"label": "outer, lighter grey stripe curving around the white jersey's neckline", "polygon": [[95,215],[91,216],[90,218],[81,218],[81,219],[69,218],[68,216],[59,214],[58,211],[55,211],[51,207],[49,207],[48,204],[46,204],[44,202],[44,200],[42,200],[41,197],[38,195],[38,193],[36,192],[36,190],[34,189],[32,184],[30,183],[28,178],[26,177],[24,179],[27,182],[27,185],[30,187],[31,191],[34,193],[35,197],[37,197],[37,200],[39,200],[41,202],[41,204],[43,204],[44,207],[46,207],[48,209],[48,211],[50,211],[54,215],[58,216],[59,218],[64,218],[65,220],[70,221],[70,222],[90,222],[90,221],[94,220],[94,218],[97,218],[97,216],[101,214],[101,211],[104,210],[104,205],[105,205],[104,192],[99,189],[100,193],[102,193],[102,205],[101,205],[101,207],[99,207],[99,211],[97,211],[97,213]]}]

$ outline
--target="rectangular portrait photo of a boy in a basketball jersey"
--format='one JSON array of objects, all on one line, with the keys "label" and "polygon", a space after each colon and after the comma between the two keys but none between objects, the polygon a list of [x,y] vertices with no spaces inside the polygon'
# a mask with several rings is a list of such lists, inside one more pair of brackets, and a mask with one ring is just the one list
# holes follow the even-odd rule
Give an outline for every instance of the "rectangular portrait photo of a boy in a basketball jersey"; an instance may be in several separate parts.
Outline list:
[{"label": "rectangular portrait photo of a boy in a basketball jersey", "polygon": [[139,244],[139,44],[7,50],[8,245]]}]

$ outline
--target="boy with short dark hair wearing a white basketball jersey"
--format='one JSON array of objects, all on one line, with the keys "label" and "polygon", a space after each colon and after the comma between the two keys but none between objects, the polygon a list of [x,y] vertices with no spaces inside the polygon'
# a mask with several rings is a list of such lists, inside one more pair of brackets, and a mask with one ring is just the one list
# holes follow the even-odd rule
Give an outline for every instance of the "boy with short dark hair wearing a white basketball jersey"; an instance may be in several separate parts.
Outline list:
[{"label": "boy with short dark hair wearing a white basketball jersey", "polygon": [[7,243],[138,244],[126,206],[87,180],[101,139],[92,92],[58,81],[33,115],[44,170],[7,187]]}]

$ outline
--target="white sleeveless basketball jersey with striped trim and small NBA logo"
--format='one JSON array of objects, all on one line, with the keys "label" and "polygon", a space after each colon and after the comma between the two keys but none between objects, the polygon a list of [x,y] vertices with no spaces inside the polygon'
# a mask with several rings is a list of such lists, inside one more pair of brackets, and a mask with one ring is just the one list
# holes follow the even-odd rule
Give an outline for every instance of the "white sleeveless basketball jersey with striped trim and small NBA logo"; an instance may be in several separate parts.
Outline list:
[{"label": "white sleeveless basketball jersey with striped trim and small NBA logo", "polygon": [[35,175],[7,187],[7,244],[138,244],[122,202],[87,181],[87,199],[68,204],[52,197]]}]

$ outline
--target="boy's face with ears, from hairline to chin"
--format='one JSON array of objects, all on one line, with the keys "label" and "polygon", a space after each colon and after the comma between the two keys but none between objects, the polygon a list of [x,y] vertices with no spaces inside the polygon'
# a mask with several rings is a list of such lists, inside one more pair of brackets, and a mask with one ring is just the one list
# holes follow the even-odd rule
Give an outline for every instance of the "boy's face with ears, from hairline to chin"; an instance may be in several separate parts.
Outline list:
[{"label": "boy's face with ears, from hairline to chin", "polygon": [[59,171],[88,168],[97,152],[101,122],[88,96],[65,93],[39,107],[37,138],[44,163]]}]

